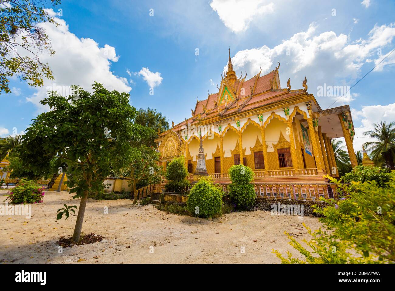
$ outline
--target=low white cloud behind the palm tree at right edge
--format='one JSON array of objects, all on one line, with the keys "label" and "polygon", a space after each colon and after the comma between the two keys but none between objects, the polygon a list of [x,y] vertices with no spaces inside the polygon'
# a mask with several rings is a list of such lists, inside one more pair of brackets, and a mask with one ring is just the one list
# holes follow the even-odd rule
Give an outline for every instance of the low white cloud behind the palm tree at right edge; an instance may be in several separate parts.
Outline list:
[{"label": "low white cloud behind the palm tree at right edge", "polygon": [[361,120],[360,127],[354,127],[354,150],[361,150],[362,144],[367,141],[372,141],[369,137],[365,137],[365,131],[373,129],[373,124],[381,121],[392,122],[395,121],[395,103],[388,105],[371,105],[364,106],[362,110],[352,110],[352,118],[354,120]]}]

